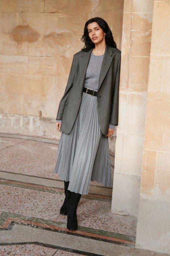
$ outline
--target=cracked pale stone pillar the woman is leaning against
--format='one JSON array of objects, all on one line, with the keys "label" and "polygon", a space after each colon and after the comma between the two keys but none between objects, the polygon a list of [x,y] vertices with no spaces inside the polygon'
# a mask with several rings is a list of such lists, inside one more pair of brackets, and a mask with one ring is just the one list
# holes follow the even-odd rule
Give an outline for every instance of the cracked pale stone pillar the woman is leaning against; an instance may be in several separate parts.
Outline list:
[{"label": "cracked pale stone pillar the woman is leaning against", "polygon": [[125,0],[112,212],[137,216],[153,1]]}]

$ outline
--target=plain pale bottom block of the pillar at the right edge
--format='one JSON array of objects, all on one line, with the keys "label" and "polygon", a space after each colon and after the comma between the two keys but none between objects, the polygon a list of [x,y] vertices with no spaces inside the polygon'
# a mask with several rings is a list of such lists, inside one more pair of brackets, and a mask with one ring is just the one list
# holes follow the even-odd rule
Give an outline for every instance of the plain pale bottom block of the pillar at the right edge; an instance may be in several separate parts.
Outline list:
[{"label": "plain pale bottom block of the pillar at the right edge", "polygon": [[169,202],[157,202],[141,197],[139,201],[135,246],[169,255],[169,216]]}]

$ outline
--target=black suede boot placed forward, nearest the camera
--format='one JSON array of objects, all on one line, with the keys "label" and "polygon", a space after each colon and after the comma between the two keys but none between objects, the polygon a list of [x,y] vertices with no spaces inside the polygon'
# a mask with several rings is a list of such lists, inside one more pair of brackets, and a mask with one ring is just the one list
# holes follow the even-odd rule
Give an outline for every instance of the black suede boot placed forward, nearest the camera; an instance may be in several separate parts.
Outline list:
[{"label": "black suede boot placed forward, nearest the camera", "polygon": [[78,228],[77,205],[80,201],[81,195],[82,194],[71,192],[69,208],[67,211],[67,229],[69,230],[76,230]]}]

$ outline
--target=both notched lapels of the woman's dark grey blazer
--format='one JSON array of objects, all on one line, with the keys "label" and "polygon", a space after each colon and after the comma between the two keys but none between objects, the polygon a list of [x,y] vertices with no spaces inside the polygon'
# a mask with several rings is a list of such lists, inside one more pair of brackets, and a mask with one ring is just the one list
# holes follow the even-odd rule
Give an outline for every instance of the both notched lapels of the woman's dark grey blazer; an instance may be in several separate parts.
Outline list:
[{"label": "both notched lapels of the woman's dark grey blazer", "polygon": [[[87,71],[88,62],[90,60],[90,55],[91,55],[92,50],[93,49],[90,49],[88,52],[82,52],[82,57],[79,58],[80,93],[82,93],[82,91],[83,91],[84,81],[86,78],[86,71]],[[112,48],[110,46],[108,46],[108,44],[106,44],[103,62],[101,65],[101,70],[100,70],[98,90],[106,76],[106,73],[108,72],[108,69],[112,63],[112,59],[113,59]]]}]

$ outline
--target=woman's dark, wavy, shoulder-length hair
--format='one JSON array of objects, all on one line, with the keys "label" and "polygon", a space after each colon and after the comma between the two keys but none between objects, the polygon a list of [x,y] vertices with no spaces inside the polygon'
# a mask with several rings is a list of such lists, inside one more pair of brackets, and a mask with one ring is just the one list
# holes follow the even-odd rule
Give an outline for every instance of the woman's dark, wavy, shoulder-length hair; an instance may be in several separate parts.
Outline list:
[{"label": "woman's dark, wavy, shoulder-length hair", "polygon": [[103,20],[103,18],[95,17],[95,18],[91,18],[90,20],[88,20],[84,26],[84,34],[83,34],[81,40],[82,40],[82,42],[85,43],[85,46],[81,50],[87,52],[91,48],[95,47],[95,44],[92,42],[92,40],[90,39],[90,37],[88,35],[88,29],[87,29],[87,25],[92,22],[97,22],[97,24],[101,27],[101,29],[103,29],[103,31],[106,33],[105,43],[111,47],[117,48],[116,43],[113,40],[112,31],[110,30],[107,22],[105,20]]}]

